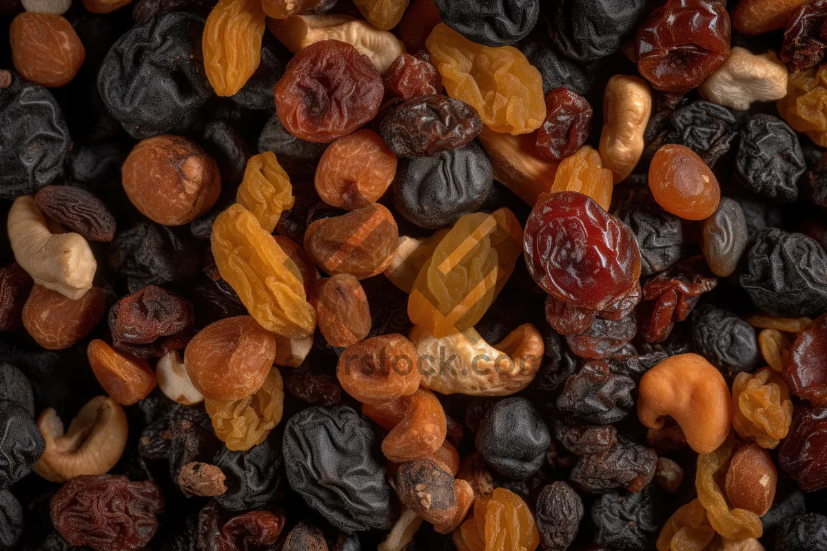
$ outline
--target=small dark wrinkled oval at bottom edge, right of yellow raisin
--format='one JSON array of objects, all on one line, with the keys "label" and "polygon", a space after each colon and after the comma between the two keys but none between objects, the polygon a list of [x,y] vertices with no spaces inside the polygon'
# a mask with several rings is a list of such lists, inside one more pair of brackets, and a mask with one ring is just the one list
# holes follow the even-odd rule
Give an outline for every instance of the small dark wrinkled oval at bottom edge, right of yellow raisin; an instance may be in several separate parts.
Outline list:
[{"label": "small dark wrinkled oval at bottom edge, right of yellow raisin", "polygon": [[543,551],[566,551],[577,536],[583,512],[583,500],[566,482],[544,487],[536,515]]}]

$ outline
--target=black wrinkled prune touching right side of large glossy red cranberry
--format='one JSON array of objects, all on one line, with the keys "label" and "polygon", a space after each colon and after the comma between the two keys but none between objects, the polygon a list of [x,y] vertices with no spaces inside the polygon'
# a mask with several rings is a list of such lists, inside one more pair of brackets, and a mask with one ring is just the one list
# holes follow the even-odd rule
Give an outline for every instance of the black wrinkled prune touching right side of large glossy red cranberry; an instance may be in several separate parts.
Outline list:
[{"label": "black wrinkled prune touching right side of large glossy red cranberry", "polygon": [[661,209],[653,210],[632,202],[620,219],[632,230],[640,249],[640,275],[662,272],[681,259],[681,219]]}]

